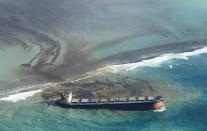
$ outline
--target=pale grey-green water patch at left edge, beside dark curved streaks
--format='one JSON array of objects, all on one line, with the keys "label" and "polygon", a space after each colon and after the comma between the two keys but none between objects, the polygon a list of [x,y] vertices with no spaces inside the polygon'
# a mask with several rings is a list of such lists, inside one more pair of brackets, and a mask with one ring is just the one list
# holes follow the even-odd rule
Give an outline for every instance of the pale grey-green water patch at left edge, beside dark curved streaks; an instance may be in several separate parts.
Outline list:
[{"label": "pale grey-green water patch at left edge, beside dark curved streaks", "polygon": [[21,64],[28,63],[38,52],[37,46],[32,46],[29,49],[23,49],[19,46],[0,48],[0,81],[11,82],[20,79],[22,77]]}]

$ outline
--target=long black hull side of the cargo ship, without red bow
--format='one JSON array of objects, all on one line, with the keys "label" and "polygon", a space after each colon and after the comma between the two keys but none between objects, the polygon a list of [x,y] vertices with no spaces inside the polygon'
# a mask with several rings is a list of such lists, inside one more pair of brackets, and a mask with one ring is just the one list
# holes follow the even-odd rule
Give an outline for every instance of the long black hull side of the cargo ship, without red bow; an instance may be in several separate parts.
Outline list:
[{"label": "long black hull side of the cargo ship, without red bow", "polygon": [[56,105],[64,108],[72,109],[108,109],[121,111],[148,111],[154,110],[156,102],[143,103],[103,103],[103,104],[68,104],[61,101],[56,101]]}]

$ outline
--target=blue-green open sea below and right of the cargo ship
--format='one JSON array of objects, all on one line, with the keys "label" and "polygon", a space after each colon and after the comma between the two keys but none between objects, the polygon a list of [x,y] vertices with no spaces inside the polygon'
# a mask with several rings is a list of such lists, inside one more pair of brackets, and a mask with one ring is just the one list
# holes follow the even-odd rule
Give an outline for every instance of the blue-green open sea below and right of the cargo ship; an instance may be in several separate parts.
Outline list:
[{"label": "blue-green open sea below and right of the cargo ship", "polygon": [[164,91],[161,92],[166,96],[165,111],[63,109],[41,104],[41,97],[36,94],[16,103],[1,101],[0,128],[2,131],[207,130],[206,59],[207,54],[192,55],[189,59],[170,59],[159,66],[137,67],[124,72],[154,81],[167,82],[168,86],[165,88],[170,87],[171,90],[163,89]]}]

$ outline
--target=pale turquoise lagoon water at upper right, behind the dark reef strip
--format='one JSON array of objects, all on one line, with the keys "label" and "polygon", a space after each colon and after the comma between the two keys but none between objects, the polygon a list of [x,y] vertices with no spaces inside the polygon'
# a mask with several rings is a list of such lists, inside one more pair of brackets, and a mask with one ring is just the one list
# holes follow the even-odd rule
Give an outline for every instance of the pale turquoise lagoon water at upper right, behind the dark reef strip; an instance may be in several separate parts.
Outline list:
[{"label": "pale turquoise lagoon water at upper right, behind the dark reef strip", "polygon": [[[130,2],[130,6],[124,4],[109,6],[107,7],[111,13],[109,16],[123,15],[124,18],[126,17],[126,21],[133,23],[130,27],[137,30],[137,32],[133,31],[137,33],[137,36],[95,50],[90,57],[100,59],[120,52],[155,45],[206,39],[207,29],[204,28],[207,22],[206,4],[205,0],[140,0],[133,6]],[[127,24],[126,27],[128,27]],[[114,35],[117,33],[119,32],[114,32]]]}]

